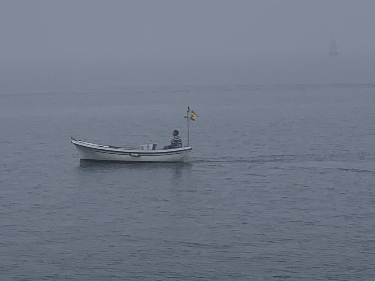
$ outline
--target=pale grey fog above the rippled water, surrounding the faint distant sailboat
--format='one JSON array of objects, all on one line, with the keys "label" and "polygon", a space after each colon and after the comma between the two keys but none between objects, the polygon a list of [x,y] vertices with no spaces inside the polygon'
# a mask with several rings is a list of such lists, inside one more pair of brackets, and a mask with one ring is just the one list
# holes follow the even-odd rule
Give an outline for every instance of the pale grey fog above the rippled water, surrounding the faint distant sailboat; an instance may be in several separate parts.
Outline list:
[{"label": "pale grey fog above the rippled water, surrounding the faint distant sailboat", "polygon": [[0,87],[372,83],[374,10],[374,1],[1,1]]}]

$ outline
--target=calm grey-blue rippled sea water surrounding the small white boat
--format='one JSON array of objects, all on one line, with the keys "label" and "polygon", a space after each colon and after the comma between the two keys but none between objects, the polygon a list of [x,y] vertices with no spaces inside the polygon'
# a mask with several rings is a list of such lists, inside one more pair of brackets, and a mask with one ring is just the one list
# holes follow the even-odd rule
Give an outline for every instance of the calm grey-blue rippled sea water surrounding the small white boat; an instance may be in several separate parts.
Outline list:
[{"label": "calm grey-blue rippled sea water surrounding the small white boat", "polygon": [[[374,280],[375,85],[0,93],[1,280]],[[71,136],[190,164],[80,162]]]}]

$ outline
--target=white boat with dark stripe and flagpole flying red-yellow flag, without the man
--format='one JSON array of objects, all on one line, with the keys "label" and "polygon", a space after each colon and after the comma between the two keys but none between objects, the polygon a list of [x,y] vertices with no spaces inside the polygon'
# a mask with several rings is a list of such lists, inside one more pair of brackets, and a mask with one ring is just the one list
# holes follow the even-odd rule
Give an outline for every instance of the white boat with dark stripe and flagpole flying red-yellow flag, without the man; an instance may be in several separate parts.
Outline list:
[{"label": "white boat with dark stripe and flagpole flying red-yellow flag, without the man", "polygon": [[[189,111],[187,107],[188,116]],[[194,113],[194,116],[197,115]],[[187,146],[180,148],[156,149],[156,143],[131,146],[102,145],[74,138],[71,138],[71,143],[77,148],[81,160],[120,163],[189,162],[192,153],[189,146],[189,119],[194,120],[192,117],[187,118]]]}]

